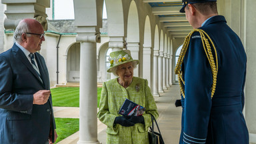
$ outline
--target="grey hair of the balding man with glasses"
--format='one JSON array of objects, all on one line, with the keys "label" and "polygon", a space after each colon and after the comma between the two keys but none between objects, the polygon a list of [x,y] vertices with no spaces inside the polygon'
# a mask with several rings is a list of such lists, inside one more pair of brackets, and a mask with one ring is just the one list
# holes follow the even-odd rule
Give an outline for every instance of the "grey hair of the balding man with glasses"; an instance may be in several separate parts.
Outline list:
[{"label": "grey hair of the balding man with glasses", "polygon": [[[13,33],[13,37],[15,39],[15,41],[17,42],[21,42],[22,41],[22,33],[29,33],[29,25],[27,25],[27,23],[25,21],[20,21],[19,25],[16,27],[14,33]],[[30,37],[30,34],[27,34],[28,37]]]}]

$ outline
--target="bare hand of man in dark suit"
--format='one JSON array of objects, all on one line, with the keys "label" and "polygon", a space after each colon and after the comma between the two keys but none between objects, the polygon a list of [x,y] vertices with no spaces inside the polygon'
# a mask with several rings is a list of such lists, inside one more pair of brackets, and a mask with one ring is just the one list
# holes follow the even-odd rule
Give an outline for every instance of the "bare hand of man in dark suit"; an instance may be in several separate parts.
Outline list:
[{"label": "bare hand of man in dark suit", "polygon": [[45,104],[48,101],[50,94],[51,94],[50,90],[37,91],[37,93],[33,95],[33,104],[36,104],[36,105]]}]

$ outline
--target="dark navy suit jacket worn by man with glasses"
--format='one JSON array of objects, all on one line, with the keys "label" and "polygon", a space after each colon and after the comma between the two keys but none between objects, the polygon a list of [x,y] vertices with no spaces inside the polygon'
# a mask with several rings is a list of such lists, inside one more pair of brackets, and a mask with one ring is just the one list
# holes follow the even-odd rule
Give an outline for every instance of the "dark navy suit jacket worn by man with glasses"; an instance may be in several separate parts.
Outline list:
[{"label": "dark navy suit jacket worn by man with glasses", "polygon": [[55,128],[51,95],[44,105],[33,105],[34,93],[50,89],[45,60],[39,53],[35,59],[43,83],[17,45],[0,54],[0,143],[45,144]]}]

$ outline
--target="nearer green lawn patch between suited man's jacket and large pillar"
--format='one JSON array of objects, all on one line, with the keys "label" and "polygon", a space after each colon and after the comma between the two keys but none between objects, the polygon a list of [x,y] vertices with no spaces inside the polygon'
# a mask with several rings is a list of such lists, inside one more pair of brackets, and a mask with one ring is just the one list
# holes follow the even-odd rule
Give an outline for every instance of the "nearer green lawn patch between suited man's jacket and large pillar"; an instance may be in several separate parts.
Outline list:
[{"label": "nearer green lawn patch between suited man's jacket and large pillar", "polygon": [[79,119],[55,118],[55,123],[58,134],[56,143],[79,131]]}]

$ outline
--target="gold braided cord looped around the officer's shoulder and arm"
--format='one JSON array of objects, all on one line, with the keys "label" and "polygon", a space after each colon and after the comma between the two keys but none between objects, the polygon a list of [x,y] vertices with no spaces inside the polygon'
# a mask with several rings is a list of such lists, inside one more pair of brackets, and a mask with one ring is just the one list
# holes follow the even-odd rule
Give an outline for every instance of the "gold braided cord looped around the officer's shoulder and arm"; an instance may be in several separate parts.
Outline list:
[{"label": "gold braided cord looped around the officer's shoulder and arm", "polygon": [[[211,72],[213,73],[213,85],[211,87],[211,98],[213,98],[213,95],[215,93],[216,83],[217,83],[217,73],[218,73],[218,59],[217,59],[217,51],[215,48],[215,45],[213,44],[213,41],[211,41],[211,37],[205,33],[202,29],[194,29],[185,37],[185,41],[183,43],[183,47],[181,49],[181,53],[179,55],[179,59],[175,68],[175,74],[178,75],[179,78],[179,87],[181,87],[181,94],[185,98],[185,81],[182,77],[182,71],[181,71],[181,64],[183,63],[184,56],[187,52],[187,47],[189,47],[189,41],[191,39],[191,35],[198,31],[201,35],[202,43],[203,43],[203,49],[205,49],[205,54],[207,56],[207,59],[209,60],[209,63],[211,65]],[[211,42],[211,45],[213,46],[213,49],[215,51],[215,61],[213,58],[213,53],[211,52],[211,45],[209,44],[209,41]],[[216,63],[216,65],[215,65]],[[183,86],[184,85],[184,86]]]}]

